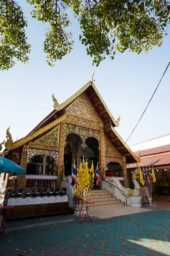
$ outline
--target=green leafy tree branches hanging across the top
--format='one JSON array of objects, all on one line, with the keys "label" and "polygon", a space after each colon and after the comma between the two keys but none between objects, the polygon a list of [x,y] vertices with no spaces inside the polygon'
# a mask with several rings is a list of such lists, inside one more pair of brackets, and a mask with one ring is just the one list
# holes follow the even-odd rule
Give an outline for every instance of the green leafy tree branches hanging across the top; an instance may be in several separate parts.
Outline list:
[{"label": "green leafy tree branches hanging across the top", "polygon": [[[168,0],[23,0],[31,4],[33,18],[49,24],[44,41],[47,62],[53,66],[74,47],[68,9],[73,9],[82,30],[79,40],[96,66],[115,51],[147,52],[160,47],[170,21]],[[27,21],[14,0],[0,0],[0,69],[15,59],[28,61]]]}]

